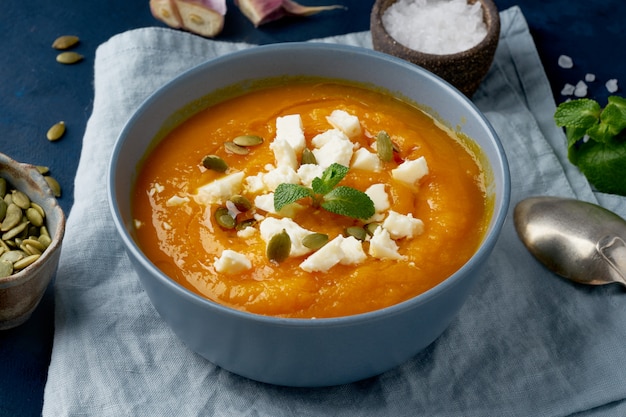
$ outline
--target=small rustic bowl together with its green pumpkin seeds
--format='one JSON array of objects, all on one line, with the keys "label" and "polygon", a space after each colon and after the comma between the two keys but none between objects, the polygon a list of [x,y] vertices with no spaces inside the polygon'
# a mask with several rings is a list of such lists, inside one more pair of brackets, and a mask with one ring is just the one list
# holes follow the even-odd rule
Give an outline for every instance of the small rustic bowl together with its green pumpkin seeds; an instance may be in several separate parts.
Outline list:
[{"label": "small rustic bowl together with its green pumpkin seeds", "polygon": [[56,274],[65,215],[34,165],[0,153],[0,330],[24,323]]}]

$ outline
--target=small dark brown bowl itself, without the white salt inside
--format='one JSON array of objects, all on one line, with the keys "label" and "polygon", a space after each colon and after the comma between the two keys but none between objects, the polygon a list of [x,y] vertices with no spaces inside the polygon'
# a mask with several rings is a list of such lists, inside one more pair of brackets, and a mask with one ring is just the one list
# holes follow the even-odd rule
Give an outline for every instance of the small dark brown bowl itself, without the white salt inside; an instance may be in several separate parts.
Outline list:
[{"label": "small dark brown bowl itself, without the white salt inside", "polygon": [[376,0],[370,16],[374,49],[412,62],[440,76],[471,97],[489,71],[500,39],[500,15],[492,0],[480,1],[487,35],[476,46],[455,54],[436,55],[410,49],[396,41],[385,29],[382,16],[396,0]]}]

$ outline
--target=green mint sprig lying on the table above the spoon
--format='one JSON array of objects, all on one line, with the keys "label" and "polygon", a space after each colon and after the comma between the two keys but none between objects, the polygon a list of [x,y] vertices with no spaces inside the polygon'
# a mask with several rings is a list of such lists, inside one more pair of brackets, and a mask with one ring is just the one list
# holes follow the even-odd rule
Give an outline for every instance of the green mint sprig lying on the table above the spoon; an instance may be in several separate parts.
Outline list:
[{"label": "green mint sprig lying on the table above the spoon", "polygon": [[626,196],[626,99],[610,96],[604,109],[592,99],[559,104],[568,159],[600,192]]}]

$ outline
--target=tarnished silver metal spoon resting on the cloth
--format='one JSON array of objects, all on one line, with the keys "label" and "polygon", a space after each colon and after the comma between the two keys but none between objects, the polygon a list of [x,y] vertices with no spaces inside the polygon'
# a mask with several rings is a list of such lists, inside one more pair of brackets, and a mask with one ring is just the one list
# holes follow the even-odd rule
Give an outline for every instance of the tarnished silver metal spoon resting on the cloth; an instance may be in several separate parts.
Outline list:
[{"label": "tarnished silver metal spoon resting on the cloth", "polygon": [[626,286],[626,220],[596,204],[531,197],[513,220],[528,250],[553,272],[582,284]]}]

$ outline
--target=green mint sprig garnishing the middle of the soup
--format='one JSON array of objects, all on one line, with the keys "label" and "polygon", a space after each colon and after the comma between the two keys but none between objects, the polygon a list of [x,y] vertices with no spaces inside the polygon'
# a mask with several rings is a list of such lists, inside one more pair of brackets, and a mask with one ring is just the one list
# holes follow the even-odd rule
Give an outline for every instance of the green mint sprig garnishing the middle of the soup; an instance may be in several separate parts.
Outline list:
[{"label": "green mint sprig garnishing the middle of the soup", "polygon": [[367,194],[352,187],[337,186],[348,174],[348,168],[332,164],[321,177],[313,179],[311,188],[299,184],[280,184],[274,191],[274,209],[280,211],[288,204],[311,198],[314,207],[355,219],[367,220],[375,213],[374,203]]}]

